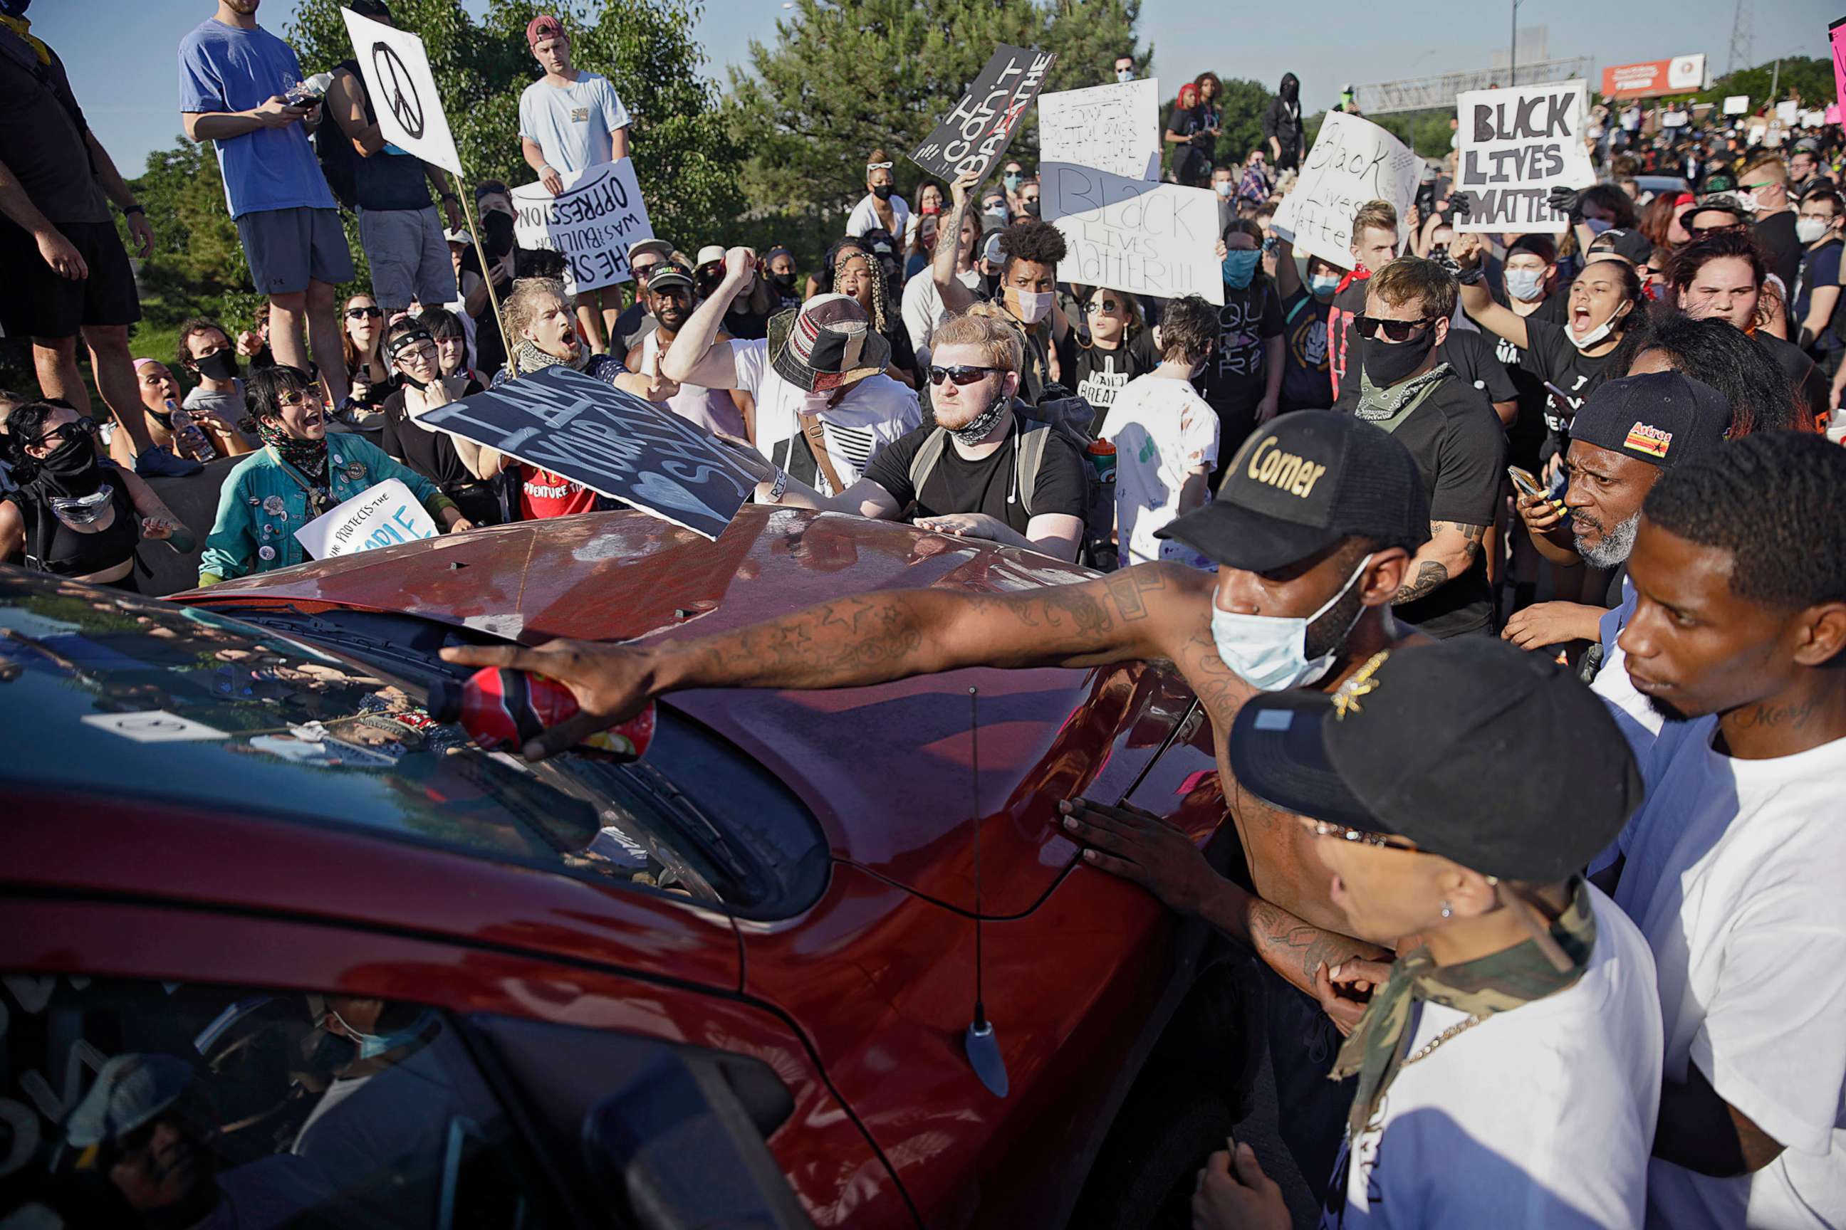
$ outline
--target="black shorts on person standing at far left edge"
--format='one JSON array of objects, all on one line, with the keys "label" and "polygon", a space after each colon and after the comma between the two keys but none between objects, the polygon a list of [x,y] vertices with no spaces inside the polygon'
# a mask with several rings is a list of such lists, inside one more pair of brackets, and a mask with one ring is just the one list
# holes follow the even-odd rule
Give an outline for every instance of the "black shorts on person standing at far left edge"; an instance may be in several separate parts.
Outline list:
[{"label": "black shorts on person standing at far left edge", "polygon": [[57,227],[83,256],[90,275],[59,277],[39,254],[24,227],[0,219],[0,330],[7,337],[76,337],[85,325],[133,325],[140,319],[135,269],[113,221],[72,221]]}]

